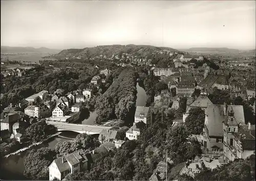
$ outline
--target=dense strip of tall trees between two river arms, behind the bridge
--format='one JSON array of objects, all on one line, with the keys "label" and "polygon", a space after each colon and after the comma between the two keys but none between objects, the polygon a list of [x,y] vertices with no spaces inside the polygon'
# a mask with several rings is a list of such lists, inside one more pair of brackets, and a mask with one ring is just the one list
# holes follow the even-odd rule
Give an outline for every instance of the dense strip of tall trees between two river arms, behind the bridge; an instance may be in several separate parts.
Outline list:
[{"label": "dense strip of tall trees between two river arms, behind the bridge", "polygon": [[96,100],[96,122],[118,118],[128,121],[134,115],[136,106],[136,72],[123,70],[104,94]]}]

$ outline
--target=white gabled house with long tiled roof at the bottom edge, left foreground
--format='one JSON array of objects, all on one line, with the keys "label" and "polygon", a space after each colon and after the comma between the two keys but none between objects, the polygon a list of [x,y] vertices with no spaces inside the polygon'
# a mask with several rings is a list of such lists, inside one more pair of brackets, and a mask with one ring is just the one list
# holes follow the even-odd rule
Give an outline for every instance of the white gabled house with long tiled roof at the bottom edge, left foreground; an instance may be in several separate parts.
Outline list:
[{"label": "white gabled house with long tiled roof at the bottom edge, left foreground", "polygon": [[88,169],[88,158],[82,149],[55,159],[49,166],[49,180],[62,180],[69,173]]}]

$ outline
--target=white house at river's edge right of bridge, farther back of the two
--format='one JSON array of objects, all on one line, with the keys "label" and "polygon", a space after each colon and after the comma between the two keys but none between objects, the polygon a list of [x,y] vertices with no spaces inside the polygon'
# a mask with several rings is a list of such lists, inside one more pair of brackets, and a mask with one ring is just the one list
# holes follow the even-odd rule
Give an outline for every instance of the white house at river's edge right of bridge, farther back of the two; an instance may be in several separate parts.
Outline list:
[{"label": "white house at river's edge right of bridge, farther back of the two", "polygon": [[145,124],[150,124],[152,121],[152,114],[150,107],[142,107],[142,106],[137,106],[136,107],[136,112],[134,116],[134,124],[137,122],[144,122]]}]

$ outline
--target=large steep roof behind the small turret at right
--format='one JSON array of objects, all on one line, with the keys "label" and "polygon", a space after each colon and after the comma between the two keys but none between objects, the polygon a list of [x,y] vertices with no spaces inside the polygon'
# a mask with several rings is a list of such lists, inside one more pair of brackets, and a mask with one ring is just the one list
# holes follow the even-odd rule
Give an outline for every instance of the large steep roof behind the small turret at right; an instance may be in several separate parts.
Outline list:
[{"label": "large steep roof behind the small turret at right", "polygon": [[[228,116],[230,105],[227,106],[226,116],[224,116],[224,105],[209,105],[206,110],[208,123],[205,122],[208,128],[209,136],[223,136],[223,121]],[[237,121],[245,124],[243,106],[232,106],[234,117]]]}]

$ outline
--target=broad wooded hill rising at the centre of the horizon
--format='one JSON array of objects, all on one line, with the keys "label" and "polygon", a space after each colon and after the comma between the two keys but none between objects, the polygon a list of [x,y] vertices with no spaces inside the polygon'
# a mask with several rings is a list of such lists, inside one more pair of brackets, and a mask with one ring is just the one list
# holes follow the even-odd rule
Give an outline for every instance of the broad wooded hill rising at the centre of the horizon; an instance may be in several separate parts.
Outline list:
[{"label": "broad wooded hill rising at the centre of the horizon", "polygon": [[133,56],[144,57],[151,53],[156,53],[157,51],[167,50],[170,52],[179,52],[177,49],[169,47],[156,47],[151,45],[104,45],[96,46],[83,49],[64,49],[56,54],[54,57],[57,59],[63,59],[67,57],[80,57],[82,58],[92,58],[97,56],[106,56],[106,58],[111,58],[113,55],[118,54],[131,54]]}]

